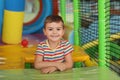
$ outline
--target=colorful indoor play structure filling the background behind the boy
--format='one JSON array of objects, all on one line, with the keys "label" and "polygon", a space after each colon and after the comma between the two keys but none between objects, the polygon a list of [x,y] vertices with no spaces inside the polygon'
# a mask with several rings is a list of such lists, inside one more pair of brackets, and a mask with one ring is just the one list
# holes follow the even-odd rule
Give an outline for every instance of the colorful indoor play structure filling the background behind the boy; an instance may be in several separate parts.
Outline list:
[{"label": "colorful indoor play structure filling the background behind the boy", "polygon": [[[74,67],[107,67],[120,74],[119,0],[33,0],[37,14],[28,22],[25,14],[35,12],[25,1],[32,0],[0,0],[0,69],[33,68],[37,43],[45,39],[44,19],[55,14],[69,31]],[[25,39],[27,46],[21,44]]]}]

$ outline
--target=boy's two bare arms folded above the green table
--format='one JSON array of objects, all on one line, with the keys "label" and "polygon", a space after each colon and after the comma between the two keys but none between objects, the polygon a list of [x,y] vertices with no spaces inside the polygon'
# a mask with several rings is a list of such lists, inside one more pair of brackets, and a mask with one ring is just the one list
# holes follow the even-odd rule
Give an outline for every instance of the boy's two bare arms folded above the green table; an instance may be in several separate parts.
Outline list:
[{"label": "boy's two bare arms folded above the green table", "polygon": [[34,66],[36,69],[43,69],[43,68],[48,68],[48,67],[55,67],[56,70],[64,71],[66,69],[70,69],[73,66],[73,61],[71,54],[67,54],[65,56],[65,62],[60,63],[60,62],[44,62],[42,61],[43,57],[36,55],[35,57],[35,62]]}]

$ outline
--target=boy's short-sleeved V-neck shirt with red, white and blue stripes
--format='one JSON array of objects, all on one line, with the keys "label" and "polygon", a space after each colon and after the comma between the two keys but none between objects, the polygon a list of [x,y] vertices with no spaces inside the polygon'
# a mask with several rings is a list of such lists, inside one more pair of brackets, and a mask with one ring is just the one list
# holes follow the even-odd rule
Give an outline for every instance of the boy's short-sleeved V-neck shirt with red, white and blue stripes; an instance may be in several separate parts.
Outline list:
[{"label": "boy's short-sleeved V-neck shirt with red, white and blue stripes", "polygon": [[48,40],[38,44],[36,54],[43,56],[43,61],[46,62],[63,62],[65,56],[73,51],[72,45],[65,40],[61,40],[56,49],[51,49]]}]

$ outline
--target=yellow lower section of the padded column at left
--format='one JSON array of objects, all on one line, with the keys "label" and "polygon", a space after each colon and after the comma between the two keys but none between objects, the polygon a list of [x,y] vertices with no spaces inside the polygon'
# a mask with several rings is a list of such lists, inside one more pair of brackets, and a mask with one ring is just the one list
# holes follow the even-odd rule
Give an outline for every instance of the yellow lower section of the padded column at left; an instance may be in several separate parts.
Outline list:
[{"label": "yellow lower section of the padded column at left", "polygon": [[18,44],[22,39],[24,12],[4,11],[2,41],[8,44]]}]

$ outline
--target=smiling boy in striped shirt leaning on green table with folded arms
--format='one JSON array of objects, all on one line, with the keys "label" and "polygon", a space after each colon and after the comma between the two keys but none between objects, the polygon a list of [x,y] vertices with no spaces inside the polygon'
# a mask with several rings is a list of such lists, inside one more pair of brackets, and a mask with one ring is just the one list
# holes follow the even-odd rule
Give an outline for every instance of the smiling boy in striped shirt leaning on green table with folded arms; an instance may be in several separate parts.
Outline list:
[{"label": "smiling boy in striped shirt leaning on green table with folded arms", "polygon": [[44,22],[43,32],[47,40],[38,44],[35,68],[40,69],[42,73],[71,69],[73,47],[62,38],[65,32],[62,18],[58,15],[48,16]]}]

